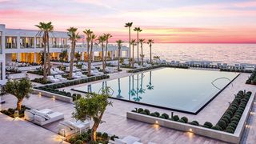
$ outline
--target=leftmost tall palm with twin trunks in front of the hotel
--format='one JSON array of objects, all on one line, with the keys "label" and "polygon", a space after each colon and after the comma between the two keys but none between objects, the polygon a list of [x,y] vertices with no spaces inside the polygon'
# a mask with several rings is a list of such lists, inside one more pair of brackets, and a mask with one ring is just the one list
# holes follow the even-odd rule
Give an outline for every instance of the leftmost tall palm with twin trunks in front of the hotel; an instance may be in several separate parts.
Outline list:
[{"label": "leftmost tall palm with twin trunks in front of the hotel", "polygon": [[[35,25],[38,27],[39,31],[38,34],[40,37],[42,36],[42,42],[44,46],[43,54],[44,54],[44,62],[43,62],[43,79],[46,81],[47,76],[47,68],[46,68],[46,62],[48,62],[48,74],[50,74],[50,47],[49,47],[49,37],[50,32],[54,30],[54,26],[51,24],[51,22],[39,22],[39,25]],[[48,48],[48,52],[46,55],[46,45]]]}]

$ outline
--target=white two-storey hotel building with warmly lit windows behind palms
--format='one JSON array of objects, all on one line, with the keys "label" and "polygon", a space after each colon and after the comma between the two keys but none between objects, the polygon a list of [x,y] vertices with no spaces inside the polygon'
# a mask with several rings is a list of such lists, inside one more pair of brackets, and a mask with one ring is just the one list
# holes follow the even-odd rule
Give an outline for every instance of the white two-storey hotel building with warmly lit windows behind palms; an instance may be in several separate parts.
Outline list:
[{"label": "white two-storey hotel building with warmly lit windows behind palms", "polygon": [[[76,52],[82,54],[81,60],[88,58],[86,42],[84,38],[81,44],[76,47]],[[0,85],[6,83],[6,66],[10,62],[40,62],[40,52],[42,52],[42,38],[38,37],[38,30],[8,29],[0,24]],[[68,50],[70,54],[70,41],[67,32],[54,31],[50,36],[50,54],[54,60],[62,50]],[[101,56],[102,48],[94,46],[94,58]],[[128,47],[122,46],[121,57],[128,57]],[[118,55],[118,46],[108,46],[108,56],[114,59]],[[95,59],[96,60],[96,59]],[[70,61],[70,55],[69,55]]]}]

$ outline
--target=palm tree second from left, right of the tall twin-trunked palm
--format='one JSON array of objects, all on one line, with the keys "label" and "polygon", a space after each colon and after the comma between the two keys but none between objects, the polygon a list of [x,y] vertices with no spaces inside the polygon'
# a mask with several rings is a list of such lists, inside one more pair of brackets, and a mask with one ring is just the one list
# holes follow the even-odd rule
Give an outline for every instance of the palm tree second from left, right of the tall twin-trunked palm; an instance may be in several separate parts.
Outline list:
[{"label": "palm tree second from left, right of the tall twin-trunked palm", "polygon": [[70,74],[69,74],[70,79],[72,78],[72,74],[73,74],[75,45],[76,45],[76,42],[77,42],[78,38],[80,38],[80,36],[77,33],[77,30],[78,30],[78,28],[75,28],[75,27],[70,27],[69,29],[67,29],[67,31],[69,32],[68,36],[69,36],[70,41],[71,41]]}]

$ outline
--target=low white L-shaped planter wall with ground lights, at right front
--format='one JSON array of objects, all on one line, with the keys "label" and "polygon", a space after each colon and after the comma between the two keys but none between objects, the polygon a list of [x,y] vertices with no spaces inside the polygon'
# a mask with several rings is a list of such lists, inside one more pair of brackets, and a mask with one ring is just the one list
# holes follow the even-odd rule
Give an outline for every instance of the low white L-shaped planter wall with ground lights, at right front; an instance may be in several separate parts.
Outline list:
[{"label": "low white L-shaped planter wall with ground lights, at right front", "polygon": [[226,133],[220,130],[212,130],[209,128],[204,128],[202,126],[193,126],[182,122],[175,122],[163,118],[152,117],[146,114],[138,114],[134,112],[127,112],[126,117],[141,122],[147,122],[150,124],[158,123],[159,126],[168,127],[174,130],[190,131],[194,134],[199,134],[209,138],[215,138],[224,142],[239,143],[242,138],[243,130],[246,126],[246,119],[249,117],[250,111],[254,105],[255,95],[256,94],[251,95],[250,100],[247,103],[246,109],[242,114],[242,118],[240,119],[238,126],[234,131],[234,134]]}]

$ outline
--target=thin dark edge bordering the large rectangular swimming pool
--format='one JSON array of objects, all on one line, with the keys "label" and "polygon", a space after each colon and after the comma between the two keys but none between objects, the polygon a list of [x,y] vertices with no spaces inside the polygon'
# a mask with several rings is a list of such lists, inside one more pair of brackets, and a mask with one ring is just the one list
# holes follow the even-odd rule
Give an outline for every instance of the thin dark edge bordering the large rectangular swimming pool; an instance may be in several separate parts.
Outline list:
[{"label": "thin dark edge bordering the large rectangular swimming pool", "polygon": [[[169,67],[166,67],[166,68],[169,68]],[[156,69],[158,70],[158,69]],[[146,71],[141,71],[141,73],[145,73],[145,72],[148,72],[150,70],[146,70]],[[219,71],[219,72],[222,72],[222,71]],[[232,72],[234,73],[234,72]],[[139,73],[140,74],[140,73]],[[217,94],[215,94],[212,98],[210,98],[210,100],[208,100],[203,106],[201,106],[201,108],[199,108],[197,111],[195,112],[190,112],[190,111],[186,111],[186,110],[178,110],[178,109],[174,109],[174,108],[169,108],[169,107],[165,107],[165,106],[156,106],[156,105],[153,105],[153,104],[148,104],[148,103],[143,103],[143,102],[135,102],[135,101],[130,101],[130,100],[126,100],[126,99],[122,99],[122,98],[114,98],[114,97],[109,97],[109,98],[112,98],[112,99],[116,99],[116,100],[120,100],[122,102],[131,102],[131,103],[136,103],[136,104],[140,104],[140,105],[143,105],[143,106],[152,106],[152,107],[156,107],[156,108],[159,108],[159,109],[164,109],[164,110],[173,110],[173,111],[177,111],[177,112],[181,112],[181,113],[185,113],[185,114],[198,114],[201,110],[203,110],[210,102],[212,102],[214,100],[214,98],[216,98],[218,96],[218,94],[221,94],[223,90],[226,89],[227,86],[230,86],[230,84],[232,82],[234,82],[234,80],[236,78],[238,78],[238,76],[240,75],[241,73],[239,73],[235,78],[233,78],[228,84],[226,84],[226,86],[224,86],[222,88],[222,90],[219,90]],[[134,75],[134,73],[132,73],[131,75]],[[114,78],[114,79],[117,79],[117,78]],[[113,80],[113,79],[112,79]],[[88,94],[87,92],[85,91],[82,91],[82,90],[74,90],[74,89],[71,89],[73,91],[77,91],[79,93],[83,93],[83,94]]]}]

